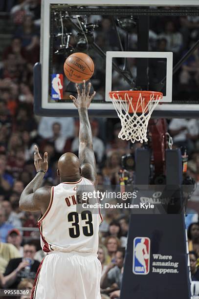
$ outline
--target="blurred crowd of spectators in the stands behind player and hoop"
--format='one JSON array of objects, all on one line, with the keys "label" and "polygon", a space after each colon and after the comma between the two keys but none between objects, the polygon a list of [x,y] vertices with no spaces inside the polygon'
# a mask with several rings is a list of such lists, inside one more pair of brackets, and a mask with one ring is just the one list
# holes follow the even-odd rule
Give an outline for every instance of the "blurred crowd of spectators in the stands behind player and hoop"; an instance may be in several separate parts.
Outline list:
[{"label": "blurred crowd of spectators in the stands behind player and hoop", "polygon": [[[40,214],[19,209],[20,195],[36,173],[33,164],[34,145],[38,145],[41,154],[48,152],[49,169],[44,179],[44,185],[47,186],[59,183],[56,170],[60,155],[65,151],[77,154],[79,146],[78,119],[37,117],[33,113],[33,65],[39,61],[40,51],[40,2],[0,1],[0,11],[8,12],[15,24],[12,41],[4,49],[0,61],[0,284],[9,288],[31,289],[39,263],[44,257],[37,229]],[[99,23],[96,43],[104,51],[119,50],[111,20],[93,16],[89,21],[96,19]],[[177,61],[199,38],[199,17],[169,19],[151,18],[150,49],[172,51]],[[75,46],[75,39],[71,40],[71,44]],[[130,50],[136,50],[136,44],[137,35],[133,31],[130,34]],[[95,53],[90,55],[94,56]],[[133,61],[130,63],[136,76],[135,64]],[[97,91],[97,99],[103,99],[105,63],[96,56],[95,64],[93,87]],[[124,89],[124,82],[119,81],[116,75],[113,79],[117,89]],[[199,50],[182,65],[176,80],[178,93],[186,90],[190,98],[194,96],[199,88]],[[91,128],[98,183],[101,186],[117,185],[121,156],[130,152],[128,143],[117,137],[120,124],[115,119],[91,119]],[[199,183],[198,120],[173,119],[168,121],[168,128],[174,146],[187,148],[188,172]],[[198,201],[198,195],[196,189],[193,194],[195,202]],[[189,217],[187,226],[191,225],[191,267],[193,275],[199,280],[195,267],[199,257],[199,210],[192,205],[190,211],[192,217]],[[119,211],[118,214],[104,213],[98,249],[102,264],[102,299],[119,298],[128,228],[127,214]]]}]

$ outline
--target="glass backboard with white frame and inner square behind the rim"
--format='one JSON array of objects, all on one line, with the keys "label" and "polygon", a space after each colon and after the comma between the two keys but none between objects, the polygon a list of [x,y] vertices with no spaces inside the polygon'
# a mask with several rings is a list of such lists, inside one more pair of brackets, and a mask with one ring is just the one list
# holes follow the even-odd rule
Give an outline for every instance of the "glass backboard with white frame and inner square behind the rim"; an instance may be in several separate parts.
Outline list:
[{"label": "glass backboard with white frame and inner square behind the rim", "polygon": [[[182,34],[185,22],[199,19],[197,2],[189,1],[187,7],[183,0],[141,0],[133,4],[117,0],[114,5],[111,1],[68,0],[66,4],[65,0],[44,0],[41,62],[34,70],[35,113],[76,115],[69,98],[75,95],[75,87],[64,75],[63,65],[71,53],[84,52],[95,64],[90,79],[96,91],[89,108],[91,115],[116,117],[109,91],[139,89],[143,69],[142,89],[162,91],[164,95],[153,117],[198,117],[197,78],[193,73],[186,78],[187,67],[199,53],[197,46],[180,64],[198,41],[197,33],[191,42],[185,41]],[[146,19],[148,28],[141,28]],[[57,75],[63,85],[61,99],[52,86]]]}]

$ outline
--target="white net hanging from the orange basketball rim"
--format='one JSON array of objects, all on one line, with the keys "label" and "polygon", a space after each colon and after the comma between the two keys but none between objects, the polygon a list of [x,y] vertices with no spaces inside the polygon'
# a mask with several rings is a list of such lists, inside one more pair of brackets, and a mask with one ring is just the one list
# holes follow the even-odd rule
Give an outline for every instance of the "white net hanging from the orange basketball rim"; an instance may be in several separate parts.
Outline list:
[{"label": "white net hanging from the orange basketball rim", "polygon": [[[131,142],[139,141],[143,143],[148,141],[147,139],[147,127],[151,118],[152,112],[158,105],[161,96],[151,93],[150,101],[147,103],[145,98],[140,93],[135,108],[132,105],[132,97],[129,97],[128,93],[125,93],[125,101],[119,97],[119,94],[112,94],[111,101],[117,111],[117,115],[121,120],[121,131],[118,137],[122,140],[131,140]],[[129,113],[129,107],[131,106],[133,113]],[[142,113],[137,114],[137,109],[142,110]]]}]

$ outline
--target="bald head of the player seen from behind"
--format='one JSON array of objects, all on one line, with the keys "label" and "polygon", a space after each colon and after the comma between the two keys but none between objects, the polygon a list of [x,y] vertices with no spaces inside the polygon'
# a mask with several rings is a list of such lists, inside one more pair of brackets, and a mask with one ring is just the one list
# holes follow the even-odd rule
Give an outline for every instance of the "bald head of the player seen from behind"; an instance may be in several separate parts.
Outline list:
[{"label": "bald head of the player seen from behind", "polygon": [[62,182],[79,180],[81,169],[78,157],[71,152],[63,154],[59,158],[57,172]]}]

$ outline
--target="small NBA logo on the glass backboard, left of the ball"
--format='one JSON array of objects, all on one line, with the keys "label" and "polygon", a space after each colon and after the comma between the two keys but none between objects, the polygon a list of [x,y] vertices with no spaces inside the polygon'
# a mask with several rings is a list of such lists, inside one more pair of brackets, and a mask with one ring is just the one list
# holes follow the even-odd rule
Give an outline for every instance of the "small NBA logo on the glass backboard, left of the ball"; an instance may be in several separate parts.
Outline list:
[{"label": "small NBA logo on the glass backboard, left of the ball", "polygon": [[62,100],[63,99],[63,74],[51,75],[51,99]]}]

